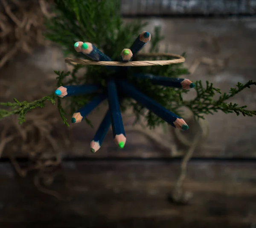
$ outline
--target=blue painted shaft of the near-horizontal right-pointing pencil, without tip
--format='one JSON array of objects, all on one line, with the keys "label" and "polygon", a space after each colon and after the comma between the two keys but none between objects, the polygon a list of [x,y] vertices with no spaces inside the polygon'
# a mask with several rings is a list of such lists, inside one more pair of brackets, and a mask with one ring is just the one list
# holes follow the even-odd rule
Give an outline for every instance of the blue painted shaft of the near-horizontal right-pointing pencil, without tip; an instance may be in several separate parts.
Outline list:
[{"label": "blue painted shaft of the near-horizontal right-pointing pencil, without tip", "polygon": [[133,76],[148,79],[155,85],[171,86],[175,88],[182,88],[181,82],[184,81],[184,78],[158,77],[151,74],[134,74]]}]

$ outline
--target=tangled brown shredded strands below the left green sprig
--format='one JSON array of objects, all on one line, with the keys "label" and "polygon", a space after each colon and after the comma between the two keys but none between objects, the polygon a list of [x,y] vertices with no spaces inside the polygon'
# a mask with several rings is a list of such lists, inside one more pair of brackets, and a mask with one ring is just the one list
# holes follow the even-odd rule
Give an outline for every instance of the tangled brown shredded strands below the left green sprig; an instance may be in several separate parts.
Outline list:
[{"label": "tangled brown shredded strands below the left green sprig", "polygon": [[[57,192],[47,189],[55,179],[56,168],[61,164],[61,147],[71,146],[70,131],[66,127],[60,129],[58,113],[55,106],[33,110],[26,116],[26,123],[20,125],[17,117],[1,123],[0,155],[5,153],[14,165],[20,177],[26,177],[29,171],[36,170],[34,183],[38,190],[50,194],[58,199]],[[58,132],[55,131],[58,125]],[[16,157],[29,158],[26,168],[21,168]]]}]

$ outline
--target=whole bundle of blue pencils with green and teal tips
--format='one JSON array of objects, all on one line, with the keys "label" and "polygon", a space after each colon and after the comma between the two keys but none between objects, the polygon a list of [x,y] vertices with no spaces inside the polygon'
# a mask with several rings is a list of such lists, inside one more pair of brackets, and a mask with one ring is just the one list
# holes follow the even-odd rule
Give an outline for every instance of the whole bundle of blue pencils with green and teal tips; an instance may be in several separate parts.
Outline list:
[{"label": "whole bundle of blue pencils with green and teal tips", "polygon": [[[148,41],[150,41],[151,35],[147,31],[143,31],[130,48],[125,48],[120,54],[120,60],[122,62],[132,61],[132,58],[145,46]],[[105,55],[98,48],[93,46],[92,43],[88,42],[76,42],[74,48],[77,52],[84,54],[85,56],[91,58],[94,61],[112,61],[110,57]],[[112,70],[113,68],[111,68]],[[118,68],[114,68],[116,74],[123,74],[124,71],[119,71]],[[127,70],[127,67],[123,68]],[[122,72],[122,73],[120,73]],[[168,78],[159,77],[150,74],[133,74],[132,77],[142,80],[150,80],[154,85],[172,86],[174,88],[190,89],[195,86],[188,79],[180,78]],[[102,90],[102,91],[101,91]],[[99,93],[101,91],[101,93]],[[90,151],[95,153],[99,150],[104,141],[106,134],[110,126],[112,126],[113,138],[119,148],[124,148],[126,142],[125,128],[122,121],[122,115],[120,111],[120,100],[125,97],[131,97],[138,103],[143,105],[154,112],[157,116],[165,120],[167,123],[175,128],[187,130],[189,126],[186,122],[178,117],[176,114],[172,113],[168,109],[164,108],[162,105],[158,104],[150,97],[139,91],[134,85],[128,83],[123,77],[109,77],[107,80],[106,88],[102,88],[101,85],[91,84],[91,85],[69,85],[60,86],[55,94],[58,97],[68,97],[81,94],[91,94],[98,93],[88,104],[80,108],[76,113],[73,114],[71,119],[72,123],[80,123],[84,117],[86,117],[94,108],[96,108],[103,100],[108,99],[109,109],[105,114],[95,136],[90,144]],[[122,97],[120,99],[120,97]]]}]

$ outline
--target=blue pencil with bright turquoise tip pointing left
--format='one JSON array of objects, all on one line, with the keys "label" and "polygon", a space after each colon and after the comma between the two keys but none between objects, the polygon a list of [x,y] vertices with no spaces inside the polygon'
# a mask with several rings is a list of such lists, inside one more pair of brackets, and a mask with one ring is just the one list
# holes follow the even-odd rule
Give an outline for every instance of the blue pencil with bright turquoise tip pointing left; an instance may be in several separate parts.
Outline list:
[{"label": "blue pencil with bright turquoise tip pointing left", "polygon": [[90,94],[98,91],[99,85],[67,85],[60,86],[55,90],[55,94],[58,97],[69,97],[79,94]]}]

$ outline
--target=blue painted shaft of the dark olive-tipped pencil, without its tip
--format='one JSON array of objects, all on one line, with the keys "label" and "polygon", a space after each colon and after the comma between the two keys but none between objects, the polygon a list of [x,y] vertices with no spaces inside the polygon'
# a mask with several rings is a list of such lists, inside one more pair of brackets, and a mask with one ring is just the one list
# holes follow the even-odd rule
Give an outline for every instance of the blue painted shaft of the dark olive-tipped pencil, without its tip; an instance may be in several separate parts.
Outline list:
[{"label": "blue painted shaft of the dark olive-tipped pencil, without its tip", "polygon": [[101,124],[99,125],[99,128],[93,138],[93,141],[99,142],[99,145],[101,146],[106,134],[108,133],[110,126],[111,126],[111,114],[110,114],[110,111],[108,110]]}]

